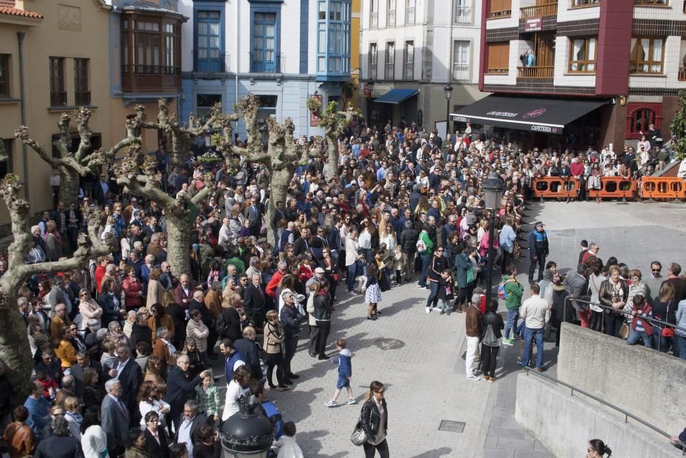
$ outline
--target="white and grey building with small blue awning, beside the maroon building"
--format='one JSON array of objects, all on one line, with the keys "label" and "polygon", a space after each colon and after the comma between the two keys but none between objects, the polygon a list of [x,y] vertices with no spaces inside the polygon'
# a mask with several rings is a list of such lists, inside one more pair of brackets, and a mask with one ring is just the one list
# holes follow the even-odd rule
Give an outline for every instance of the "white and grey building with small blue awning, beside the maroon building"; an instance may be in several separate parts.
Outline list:
[{"label": "white and grey building with small blue awning, beside the maroon building", "polygon": [[362,1],[360,95],[373,124],[405,119],[443,134],[447,110],[486,95],[477,86],[481,12],[482,0]]}]

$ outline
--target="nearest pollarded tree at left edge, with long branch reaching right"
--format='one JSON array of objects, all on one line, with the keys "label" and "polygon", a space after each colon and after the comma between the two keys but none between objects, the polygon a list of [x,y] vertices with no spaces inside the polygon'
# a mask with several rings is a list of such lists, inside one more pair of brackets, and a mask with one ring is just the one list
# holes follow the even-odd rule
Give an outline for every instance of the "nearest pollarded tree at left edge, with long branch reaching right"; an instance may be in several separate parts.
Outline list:
[{"label": "nearest pollarded tree at left edge, with long branch reaching right", "polygon": [[[6,159],[5,151],[0,142],[0,161],[4,159]],[[12,395],[15,405],[25,400],[26,384],[33,367],[26,325],[16,304],[19,288],[32,275],[81,269],[88,264],[88,260],[111,253],[113,248],[112,238],[107,238],[103,243],[98,237],[99,209],[83,207],[81,211],[88,221],[88,235],[83,233],[79,235],[78,249],[74,251],[72,257],[53,262],[26,264],[24,259],[34,247],[34,240],[29,226],[30,204],[19,197],[20,190],[19,177],[14,174],[8,174],[0,181],[0,196],[10,213],[14,237],[8,248],[8,269],[0,277],[0,358],[10,367],[8,375],[14,387]]]}]

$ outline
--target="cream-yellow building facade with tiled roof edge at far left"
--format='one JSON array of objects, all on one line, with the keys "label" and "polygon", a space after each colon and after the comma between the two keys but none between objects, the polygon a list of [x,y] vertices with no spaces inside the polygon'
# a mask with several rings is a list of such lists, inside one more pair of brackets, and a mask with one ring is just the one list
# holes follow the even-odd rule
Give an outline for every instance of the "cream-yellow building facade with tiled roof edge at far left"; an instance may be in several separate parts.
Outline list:
[{"label": "cream-yellow building facade with tiled roof edge at far left", "polygon": [[[51,149],[62,113],[77,106],[93,111],[93,148],[111,143],[108,61],[110,7],[101,0],[0,0],[0,139],[10,155],[0,178],[12,172],[24,183],[33,213],[52,209],[51,168],[14,139],[28,126]],[[71,135],[78,146],[75,122]],[[52,149],[53,154],[59,154]],[[0,222],[9,221],[0,205]]]}]

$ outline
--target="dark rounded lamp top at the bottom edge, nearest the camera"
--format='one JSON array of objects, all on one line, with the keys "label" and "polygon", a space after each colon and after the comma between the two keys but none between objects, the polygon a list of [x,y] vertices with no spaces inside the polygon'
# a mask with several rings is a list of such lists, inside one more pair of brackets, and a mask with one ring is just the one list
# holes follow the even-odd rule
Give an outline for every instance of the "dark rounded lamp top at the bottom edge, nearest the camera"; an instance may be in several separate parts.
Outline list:
[{"label": "dark rounded lamp top at the bottom edge, nearest the camera", "polygon": [[238,398],[240,411],[222,424],[222,458],[267,458],[274,441],[274,429],[267,417],[250,402],[250,395]]}]

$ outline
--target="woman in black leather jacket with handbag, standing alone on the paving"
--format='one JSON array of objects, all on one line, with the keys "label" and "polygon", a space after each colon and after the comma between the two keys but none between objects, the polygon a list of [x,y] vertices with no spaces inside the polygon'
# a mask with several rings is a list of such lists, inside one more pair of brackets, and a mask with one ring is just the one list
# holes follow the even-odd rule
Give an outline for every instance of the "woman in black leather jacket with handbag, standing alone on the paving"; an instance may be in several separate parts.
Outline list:
[{"label": "woman in black leather jacket with handbag, standing alone on the paving", "polygon": [[362,411],[359,422],[366,435],[366,441],[362,444],[364,456],[374,458],[379,452],[381,458],[388,458],[388,442],[386,433],[388,432],[388,408],[384,393],[386,388],[383,383],[374,380],[369,385],[369,392],[364,397]]}]

